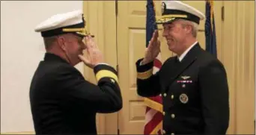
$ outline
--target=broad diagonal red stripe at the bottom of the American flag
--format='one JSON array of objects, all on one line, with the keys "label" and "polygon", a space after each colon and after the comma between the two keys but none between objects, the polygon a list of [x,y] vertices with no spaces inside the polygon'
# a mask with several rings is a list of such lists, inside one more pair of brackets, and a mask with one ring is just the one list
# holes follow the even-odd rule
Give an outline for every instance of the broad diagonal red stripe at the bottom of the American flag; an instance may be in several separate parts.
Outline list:
[{"label": "broad diagonal red stripe at the bottom of the American flag", "polygon": [[160,122],[162,122],[162,113],[157,112],[153,116],[153,119],[151,119],[150,122],[147,122],[147,124],[145,125],[144,134],[150,134],[154,130],[154,128],[156,128],[156,126],[159,125]]}]

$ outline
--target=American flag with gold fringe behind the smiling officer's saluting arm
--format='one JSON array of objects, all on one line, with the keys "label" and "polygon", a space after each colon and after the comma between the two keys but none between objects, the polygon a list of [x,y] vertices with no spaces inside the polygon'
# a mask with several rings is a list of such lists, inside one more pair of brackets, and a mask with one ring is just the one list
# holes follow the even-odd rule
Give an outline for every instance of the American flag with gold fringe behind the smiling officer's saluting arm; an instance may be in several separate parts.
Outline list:
[{"label": "American flag with gold fringe behind the smiling officer's saluting arm", "polygon": [[[157,29],[156,13],[153,0],[147,0],[147,22],[146,22],[146,48],[153,36],[153,31]],[[158,54],[153,62],[153,74],[159,71],[162,66],[161,55]],[[146,105],[144,134],[162,134],[162,97],[144,98]]]}]

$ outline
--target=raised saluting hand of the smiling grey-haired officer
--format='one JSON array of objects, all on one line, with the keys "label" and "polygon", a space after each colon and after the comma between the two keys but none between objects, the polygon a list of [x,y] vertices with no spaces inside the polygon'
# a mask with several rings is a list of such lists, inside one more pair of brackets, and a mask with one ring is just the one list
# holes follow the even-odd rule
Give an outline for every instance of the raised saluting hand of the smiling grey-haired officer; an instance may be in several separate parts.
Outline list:
[{"label": "raised saluting hand of the smiling grey-haired officer", "polygon": [[144,59],[142,60],[142,64],[150,63],[153,61],[160,52],[160,41],[158,40],[158,31],[153,32],[153,37],[150,40],[149,45],[147,46],[146,53],[144,55]]}]

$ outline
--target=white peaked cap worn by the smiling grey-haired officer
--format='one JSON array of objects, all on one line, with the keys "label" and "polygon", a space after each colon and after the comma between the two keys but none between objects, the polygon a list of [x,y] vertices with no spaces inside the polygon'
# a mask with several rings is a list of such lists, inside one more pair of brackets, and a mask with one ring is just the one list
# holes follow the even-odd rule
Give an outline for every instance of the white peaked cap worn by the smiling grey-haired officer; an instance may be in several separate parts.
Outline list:
[{"label": "white peaked cap worn by the smiling grey-haired officer", "polygon": [[165,24],[174,22],[177,19],[186,19],[196,22],[199,25],[200,20],[204,19],[204,13],[182,1],[162,1],[161,6],[162,16],[156,20],[156,24]]}]

